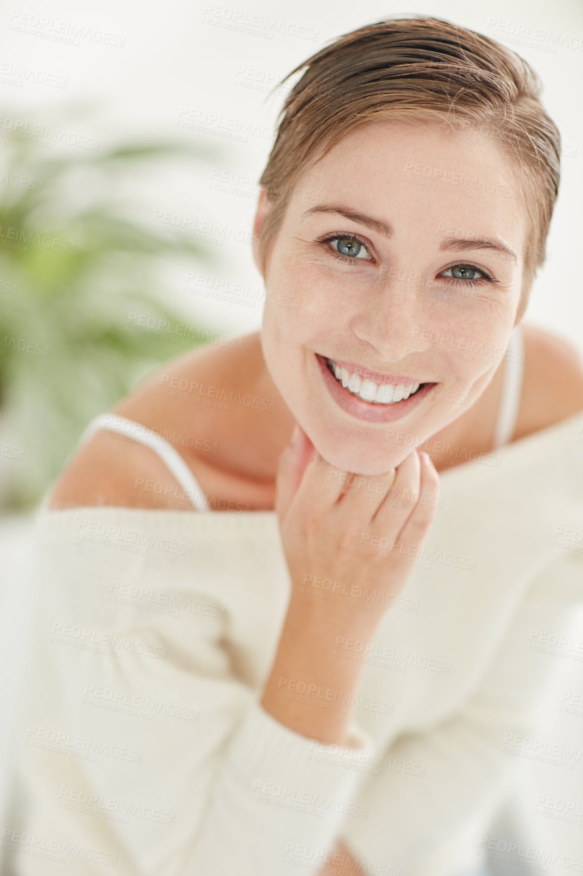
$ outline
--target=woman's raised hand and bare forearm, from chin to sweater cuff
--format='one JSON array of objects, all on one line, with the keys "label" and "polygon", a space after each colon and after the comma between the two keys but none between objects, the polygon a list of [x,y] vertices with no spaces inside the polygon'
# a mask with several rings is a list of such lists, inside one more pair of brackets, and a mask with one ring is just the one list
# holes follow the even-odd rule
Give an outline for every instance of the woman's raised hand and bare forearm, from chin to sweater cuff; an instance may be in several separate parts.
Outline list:
[{"label": "woman's raised hand and bare forearm, from chin to sweater cuff", "polygon": [[261,699],[280,724],[335,745],[354,745],[346,703],[363,668],[342,644],[357,639],[362,652],[402,590],[411,574],[402,558],[425,536],[439,485],[416,453],[384,476],[357,477],[355,491],[347,476],[301,430],[280,458],[276,512],[292,593]]}]

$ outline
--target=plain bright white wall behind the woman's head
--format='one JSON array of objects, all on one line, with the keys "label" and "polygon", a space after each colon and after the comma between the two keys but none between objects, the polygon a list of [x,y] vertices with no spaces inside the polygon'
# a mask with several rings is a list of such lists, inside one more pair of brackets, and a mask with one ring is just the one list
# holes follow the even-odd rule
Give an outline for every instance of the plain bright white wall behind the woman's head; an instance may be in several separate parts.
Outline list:
[{"label": "plain bright white wall behind the woman's head", "polygon": [[[100,140],[102,149],[141,135],[205,143],[208,159],[198,168],[177,167],[164,179],[144,180],[148,196],[141,209],[148,223],[161,212],[190,229],[204,231],[205,223],[220,226],[222,233],[214,235],[209,247],[214,263],[177,269],[169,287],[175,305],[199,323],[243,334],[259,327],[263,310],[261,278],[247,241],[255,181],[269,154],[282,102],[282,95],[266,101],[270,86],[327,40],[357,26],[411,11],[448,18],[515,47],[542,77],[544,105],[563,136],[563,178],[550,258],[533,288],[525,319],[548,326],[583,350],[583,115],[577,109],[583,82],[583,4],[418,0],[411,8],[402,2],[8,0],[0,13],[0,134],[6,136],[17,121],[34,122],[42,113],[53,129]],[[66,88],[46,84],[63,80]],[[59,121],[61,110],[71,105],[83,115],[74,123]],[[73,154],[80,147],[57,148]],[[165,228],[172,229],[172,224]],[[185,284],[188,271],[203,273],[205,279]],[[246,293],[241,293],[243,287]],[[231,290],[228,300],[218,297],[224,289]]]}]

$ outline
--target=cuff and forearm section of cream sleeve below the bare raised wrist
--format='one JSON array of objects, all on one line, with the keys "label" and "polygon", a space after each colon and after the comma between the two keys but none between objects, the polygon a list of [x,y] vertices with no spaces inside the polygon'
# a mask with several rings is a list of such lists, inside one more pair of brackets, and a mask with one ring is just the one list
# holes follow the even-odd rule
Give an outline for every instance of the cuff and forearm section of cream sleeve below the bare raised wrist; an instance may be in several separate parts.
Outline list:
[{"label": "cuff and forearm section of cream sleeve below the bare raised wrist", "polygon": [[185,873],[315,869],[354,809],[356,770],[370,753],[361,733],[353,725],[351,748],[320,745],[251,705],[217,766]]}]

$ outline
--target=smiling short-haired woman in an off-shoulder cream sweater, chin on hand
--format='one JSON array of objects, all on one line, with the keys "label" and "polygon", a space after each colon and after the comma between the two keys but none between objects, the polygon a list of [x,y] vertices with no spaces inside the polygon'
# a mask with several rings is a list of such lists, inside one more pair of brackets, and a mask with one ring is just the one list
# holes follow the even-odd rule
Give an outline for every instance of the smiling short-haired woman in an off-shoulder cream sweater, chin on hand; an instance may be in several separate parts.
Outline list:
[{"label": "smiling short-haired woman in an off-shoulder cream sweater, chin on hand", "polygon": [[39,509],[14,876],[467,876],[499,849],[583,580],[583,368],[521,324],[558,131],[522,60],[439,19],[301,67],[261,333],[92,421]]}]

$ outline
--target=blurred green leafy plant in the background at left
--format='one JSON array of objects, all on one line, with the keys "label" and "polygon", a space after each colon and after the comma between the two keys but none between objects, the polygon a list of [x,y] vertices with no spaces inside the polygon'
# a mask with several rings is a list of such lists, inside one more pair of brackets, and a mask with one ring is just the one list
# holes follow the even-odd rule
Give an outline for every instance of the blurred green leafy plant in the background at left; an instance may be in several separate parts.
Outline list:
[{"label": "blurred green leafy plant in the background at left", "polygon": [[38,145],[3,142],[0,426],[25,456],[3,485],[0,510],[25,512],[88,420],[179,351],[159,332],[132,333],[129,314],[184,322],[162,299],[161,268],[169,258],[210,257],[129,217],[120,193],[132,174],[205,153],[144,144],[41,157]]}]

